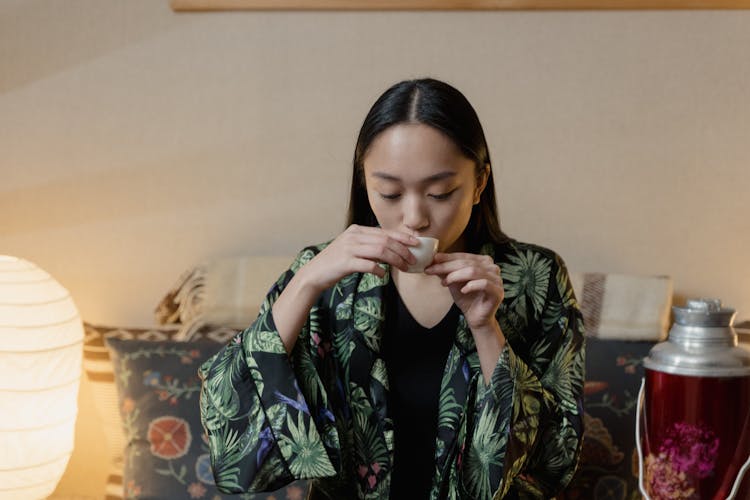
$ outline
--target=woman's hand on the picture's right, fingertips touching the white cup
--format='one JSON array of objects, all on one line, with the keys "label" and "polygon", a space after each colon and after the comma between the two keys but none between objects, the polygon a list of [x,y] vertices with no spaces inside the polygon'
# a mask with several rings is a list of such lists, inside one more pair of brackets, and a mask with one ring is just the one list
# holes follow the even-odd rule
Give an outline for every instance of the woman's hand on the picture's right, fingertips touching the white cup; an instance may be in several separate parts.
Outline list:
[{"label": "woman's hand on the picture's right, fingertips touching the white cup", "polygon": [[448,287],[472,332],[495,324],[504,291],[500,266],[489,255],[438,253],[424,272]]}]

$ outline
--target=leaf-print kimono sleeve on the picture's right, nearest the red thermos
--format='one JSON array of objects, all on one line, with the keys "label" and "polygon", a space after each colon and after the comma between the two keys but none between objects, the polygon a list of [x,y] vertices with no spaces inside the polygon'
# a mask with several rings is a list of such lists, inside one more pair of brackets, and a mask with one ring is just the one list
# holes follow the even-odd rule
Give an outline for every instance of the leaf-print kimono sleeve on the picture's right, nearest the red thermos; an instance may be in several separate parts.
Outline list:
[{"label": "leaf-print kimono sleeve on the picture's right, nearest the red thermos", "polygon": [[[530,305],[527,304],[527,305]],[[570,481],[583,437],[583,320],[554,256],[544,306],[477,377],[458,457],[459,498],[535,498]]]}]

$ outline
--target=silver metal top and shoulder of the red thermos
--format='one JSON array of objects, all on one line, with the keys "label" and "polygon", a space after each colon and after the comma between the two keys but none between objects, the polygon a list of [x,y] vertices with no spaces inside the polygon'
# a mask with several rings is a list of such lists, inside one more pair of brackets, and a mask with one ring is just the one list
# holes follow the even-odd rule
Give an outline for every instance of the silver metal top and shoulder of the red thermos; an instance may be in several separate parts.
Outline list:
[{"label": "silver metal top and shoulder of the red thermos", "polygon": [[690,299],[672,312],[669,338],[651,349],[644,367],[699,377],[750,376],[750,350],[738,344],[732,327],[734,309],[718,299]]}]

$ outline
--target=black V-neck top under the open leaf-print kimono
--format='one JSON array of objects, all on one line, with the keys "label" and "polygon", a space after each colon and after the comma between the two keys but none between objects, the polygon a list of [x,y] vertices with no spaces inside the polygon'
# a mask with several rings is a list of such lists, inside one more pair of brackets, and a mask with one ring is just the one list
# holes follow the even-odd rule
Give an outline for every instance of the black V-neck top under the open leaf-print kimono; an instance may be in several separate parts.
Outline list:
[{"label": "black V-neck top under the open leaf-print kimono", "polygon": [[390,500],[427,499],[435,472],[440,384],[460,311],[453,304],[440,323],[425,328],[392,281],[384,299],[383,359],[394,428]]}]

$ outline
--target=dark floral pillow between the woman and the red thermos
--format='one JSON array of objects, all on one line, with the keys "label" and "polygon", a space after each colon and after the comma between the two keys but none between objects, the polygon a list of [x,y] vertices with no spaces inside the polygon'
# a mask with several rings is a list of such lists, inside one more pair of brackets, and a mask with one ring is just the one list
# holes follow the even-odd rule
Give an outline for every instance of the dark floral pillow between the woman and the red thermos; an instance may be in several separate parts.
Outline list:
[{"label": "dark floral pillow between the woman and the red thermos", "polygon": [[655,342],[586,339],[581,461],[562,499],[636,500],[635,418],[643,358]]}]

